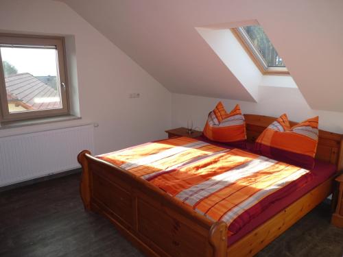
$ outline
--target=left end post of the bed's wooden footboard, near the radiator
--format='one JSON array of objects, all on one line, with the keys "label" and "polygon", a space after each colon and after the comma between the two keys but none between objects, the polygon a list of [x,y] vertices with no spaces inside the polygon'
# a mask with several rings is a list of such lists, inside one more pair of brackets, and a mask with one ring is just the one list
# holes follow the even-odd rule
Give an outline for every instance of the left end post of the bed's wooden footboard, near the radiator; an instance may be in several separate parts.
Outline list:
[{"label": "left end post of the bed's wooden footboard, near the radiator", "polygon": [[82,166],[82,177],[80,182],[80,195],[86,210],[91,210],[91,188],[89,183],[89,170],[86,154],[91,154],[90,151],[84,150],[78,154],[78,162]]}]

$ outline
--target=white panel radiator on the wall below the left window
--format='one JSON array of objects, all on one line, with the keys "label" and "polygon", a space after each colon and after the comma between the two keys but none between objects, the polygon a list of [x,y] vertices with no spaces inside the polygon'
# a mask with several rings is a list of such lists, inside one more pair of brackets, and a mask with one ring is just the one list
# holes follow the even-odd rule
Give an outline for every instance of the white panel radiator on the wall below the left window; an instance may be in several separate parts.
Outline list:
[{"label": "white panel radiator on the wall below the left window", "polygon": [[93,125],[0,138],[0,186],[80,167],[77,156],[94,149]]}]

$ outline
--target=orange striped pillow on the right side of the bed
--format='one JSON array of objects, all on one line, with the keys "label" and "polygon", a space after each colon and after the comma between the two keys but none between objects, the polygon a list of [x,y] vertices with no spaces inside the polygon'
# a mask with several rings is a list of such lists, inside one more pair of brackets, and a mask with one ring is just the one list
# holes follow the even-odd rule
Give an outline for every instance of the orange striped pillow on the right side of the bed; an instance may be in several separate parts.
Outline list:
[{"label": "orange striped pillow on the right side of the bed", "polygon": [[291,128],[287,115],[283,114],[257,138],[255,151],[269,158],[312,169],[317,145],[318,117]]}]

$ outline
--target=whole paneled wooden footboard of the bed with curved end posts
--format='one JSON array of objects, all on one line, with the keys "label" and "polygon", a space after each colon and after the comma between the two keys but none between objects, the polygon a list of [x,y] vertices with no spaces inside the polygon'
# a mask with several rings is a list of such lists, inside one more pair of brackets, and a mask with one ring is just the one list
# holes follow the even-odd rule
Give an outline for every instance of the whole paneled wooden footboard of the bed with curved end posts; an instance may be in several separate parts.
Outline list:
[{"label": "whole paneled wooden footboard of the bed with curved end posts", "polygon": [[82,151],[84,208],[106,216],[147,256],[224,257],[227,225],[212,222],[145,180]]}]

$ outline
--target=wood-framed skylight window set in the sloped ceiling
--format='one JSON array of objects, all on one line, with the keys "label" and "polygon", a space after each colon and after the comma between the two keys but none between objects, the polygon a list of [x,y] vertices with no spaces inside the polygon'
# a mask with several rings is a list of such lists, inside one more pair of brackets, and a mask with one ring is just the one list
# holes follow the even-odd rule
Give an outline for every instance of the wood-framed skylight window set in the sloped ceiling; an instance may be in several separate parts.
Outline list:
[{"label": "wood-framed skylight window set in the sloped ceiling", "polygon": [[263,74],[289,74],[283,59],[261,26],[237,27],[233,32]]}]

